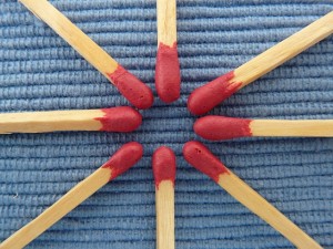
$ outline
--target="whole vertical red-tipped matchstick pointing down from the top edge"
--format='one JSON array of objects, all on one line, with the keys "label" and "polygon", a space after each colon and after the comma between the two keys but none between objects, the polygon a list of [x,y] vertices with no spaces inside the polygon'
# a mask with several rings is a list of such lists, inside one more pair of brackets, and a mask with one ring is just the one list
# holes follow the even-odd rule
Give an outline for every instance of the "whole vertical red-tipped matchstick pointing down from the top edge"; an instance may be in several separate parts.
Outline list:
[{"label": "whole vertical red-tipped matchstick pointing down from the top edge", "polygon": [[176,2],[157,0],[158,58],[155,86],[160,98],[171,103],[180,97],[180,64],[176,49]]}]

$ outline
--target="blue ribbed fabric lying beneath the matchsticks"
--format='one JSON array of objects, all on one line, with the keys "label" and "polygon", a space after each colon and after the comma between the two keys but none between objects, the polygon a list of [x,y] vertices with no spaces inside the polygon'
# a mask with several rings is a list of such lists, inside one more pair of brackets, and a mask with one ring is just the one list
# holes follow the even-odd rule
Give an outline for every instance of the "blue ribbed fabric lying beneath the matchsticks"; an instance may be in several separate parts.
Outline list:
[{"label": "blue ribbed fabric lying beneath the matchsticks", "polygon": [[[54,0],[75,24],[153,90],[154,0]],[[95,170],[123,143],[143,159],[28,248],[155,247],[151,154],[178,155],[176,247],[292,248],[181,156],[198,139],[191,91],[333,10],[332,0],[180,0],[182,96],[155,98],[132,134],[0,136],[0,240]],[[333,37],[241,90],[211,113],[260,118],[333,118]],[[155,92],[155,90],[154,90]],[[128,103],[97,70],[16,0],[0,0],[0,111],[99,108]],[[221,160],[325,248],[333,248],[333,139],[246,138],[206,143]]]}]

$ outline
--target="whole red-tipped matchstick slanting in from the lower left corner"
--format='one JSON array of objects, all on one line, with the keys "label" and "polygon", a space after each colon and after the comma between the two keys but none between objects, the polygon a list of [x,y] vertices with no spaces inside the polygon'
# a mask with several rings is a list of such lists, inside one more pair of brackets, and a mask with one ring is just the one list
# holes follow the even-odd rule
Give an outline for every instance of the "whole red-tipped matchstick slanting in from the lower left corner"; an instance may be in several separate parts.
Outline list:
[{"label": "whole red-tipped matchstick slanting in from the lower left corner", "polygon": [[34,220],[0,243],[0,249],[20,249],[26,247],[88,197],[137,164],[142,157],[142,145],[137,142],[128,143],[120,147],[99,169],[74,186]]}]

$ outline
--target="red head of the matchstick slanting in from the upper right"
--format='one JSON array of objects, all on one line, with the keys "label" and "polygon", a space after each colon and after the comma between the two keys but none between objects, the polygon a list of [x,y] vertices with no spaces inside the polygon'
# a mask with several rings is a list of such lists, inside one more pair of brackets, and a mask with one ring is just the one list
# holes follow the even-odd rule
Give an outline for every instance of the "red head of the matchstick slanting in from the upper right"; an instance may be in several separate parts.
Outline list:
[{"label": "red head of the matchstick slanting in from the upper right", "polygon": [[188,100],[190,112],[202,115],[230,97],[242,84],[230,82],[233,77],[232,71],[194,90]]}]

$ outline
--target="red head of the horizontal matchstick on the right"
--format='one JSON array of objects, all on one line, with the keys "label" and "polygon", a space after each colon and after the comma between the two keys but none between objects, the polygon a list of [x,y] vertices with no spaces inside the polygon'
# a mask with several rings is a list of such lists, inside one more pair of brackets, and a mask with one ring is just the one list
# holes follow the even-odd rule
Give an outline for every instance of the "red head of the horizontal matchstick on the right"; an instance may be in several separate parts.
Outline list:
[{"label": "red head of the horizontal matchstick on the right", "polygon": [[223,141],[252,136],[251,122],[251,120],[211,115],[195,121],[193,128],[202,138]]}]

